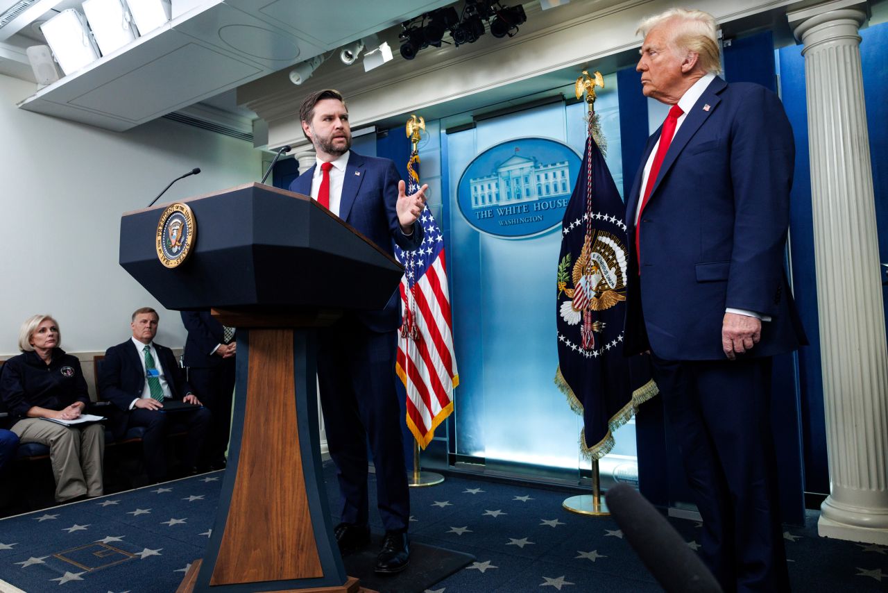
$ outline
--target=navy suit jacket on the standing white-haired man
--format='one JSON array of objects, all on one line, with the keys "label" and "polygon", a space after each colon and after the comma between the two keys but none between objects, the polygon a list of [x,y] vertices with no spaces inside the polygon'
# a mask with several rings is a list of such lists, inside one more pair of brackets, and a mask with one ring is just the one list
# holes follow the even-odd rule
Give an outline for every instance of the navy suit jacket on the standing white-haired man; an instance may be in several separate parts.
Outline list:
[{"label": "navy suit jacket on the standing white-haired man", "polygon": [[[645,156],[627,197],[629,247]],[[641,215],[640,268],[630,256],[626,352],[647,340],[666,360],[724,360],[725,308],[770,316],[747,356],[805,344],[783,268],[795,144],[781,101],[758,84],[716,78],[688,114]],[[640,310],[639,310],[640,309]]]}]

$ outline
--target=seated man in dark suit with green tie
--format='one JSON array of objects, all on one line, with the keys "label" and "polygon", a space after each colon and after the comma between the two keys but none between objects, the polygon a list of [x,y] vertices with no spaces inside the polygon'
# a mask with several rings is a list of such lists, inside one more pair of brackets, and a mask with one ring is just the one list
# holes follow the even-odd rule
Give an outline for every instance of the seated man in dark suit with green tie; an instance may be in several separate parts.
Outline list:
[{"label": "seated man in dark suit with green tie", "polygon": [[168,402],[168,408],[170,401],[193,405],[201,402],[186,382],[172,350],[154,342],[159,321],[155,309],[137,309],[132,314],[131,339],[107,349],[99,371],[101,397],[122,413],[115,438],[122,437],[127,429],[145,427],[142,446],[152,482],[166,477],[163,438],[171,426],[187,429],[182,465],[186,474],[196,472],[211,418],[210,410],[204,407],[170,413],[164,410],[164,402]]}]

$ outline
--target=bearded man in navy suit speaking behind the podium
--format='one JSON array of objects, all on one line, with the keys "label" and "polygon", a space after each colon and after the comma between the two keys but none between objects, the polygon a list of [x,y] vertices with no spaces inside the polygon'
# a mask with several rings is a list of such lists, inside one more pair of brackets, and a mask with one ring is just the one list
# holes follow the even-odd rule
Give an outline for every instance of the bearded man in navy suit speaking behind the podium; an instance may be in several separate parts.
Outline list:
[{"label": "bearded man in navy suit speaking behind the podium", "polygon": [[[391,160],[351,151],[352,132],[342,95],[313,92],[299,108],[305,137],[317,153],[316,164],[290,185],[312,196],[392,255],[392,241],[416,249],[423,226],[425,189],[407,196]],[[318,335],[318,379],[330,456],[337,465],[342,495],[341,523],[335,534],[347,554],[370,541],[367,442],[377,477],[377,506],[385,540],[377,573],[399,573],[408,565],[410,499],[395,392],[396,331],[400,294],[383,309],[346,315]]]}]

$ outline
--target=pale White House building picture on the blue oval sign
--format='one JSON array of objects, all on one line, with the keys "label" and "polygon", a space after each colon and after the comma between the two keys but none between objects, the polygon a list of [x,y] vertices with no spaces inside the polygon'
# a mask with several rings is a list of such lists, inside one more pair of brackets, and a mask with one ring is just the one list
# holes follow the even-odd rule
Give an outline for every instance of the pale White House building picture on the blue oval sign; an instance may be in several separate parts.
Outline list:
[{"label": "pale White House building picture on the blue oval sign", "polygon": [[472,208],[569,196],[567,171],[567,161],[539,164],[532,158],[511,156],[492,175],[469,180]]}]

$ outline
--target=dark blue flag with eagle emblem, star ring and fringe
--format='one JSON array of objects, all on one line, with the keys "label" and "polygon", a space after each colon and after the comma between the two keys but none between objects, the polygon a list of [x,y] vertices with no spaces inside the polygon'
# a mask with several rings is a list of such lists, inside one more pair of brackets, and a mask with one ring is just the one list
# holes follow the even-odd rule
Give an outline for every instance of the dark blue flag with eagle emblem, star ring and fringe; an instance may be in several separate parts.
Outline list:
[{"label": "dark blue flag with eagle emblem, star ring and fringe", "polygon": [[598,460],[613,431],[657,393],[646,359],[622,355],[628,251],[625,208],[590,132],[561,226],[555,383],[583,416],[583,455]]}]

